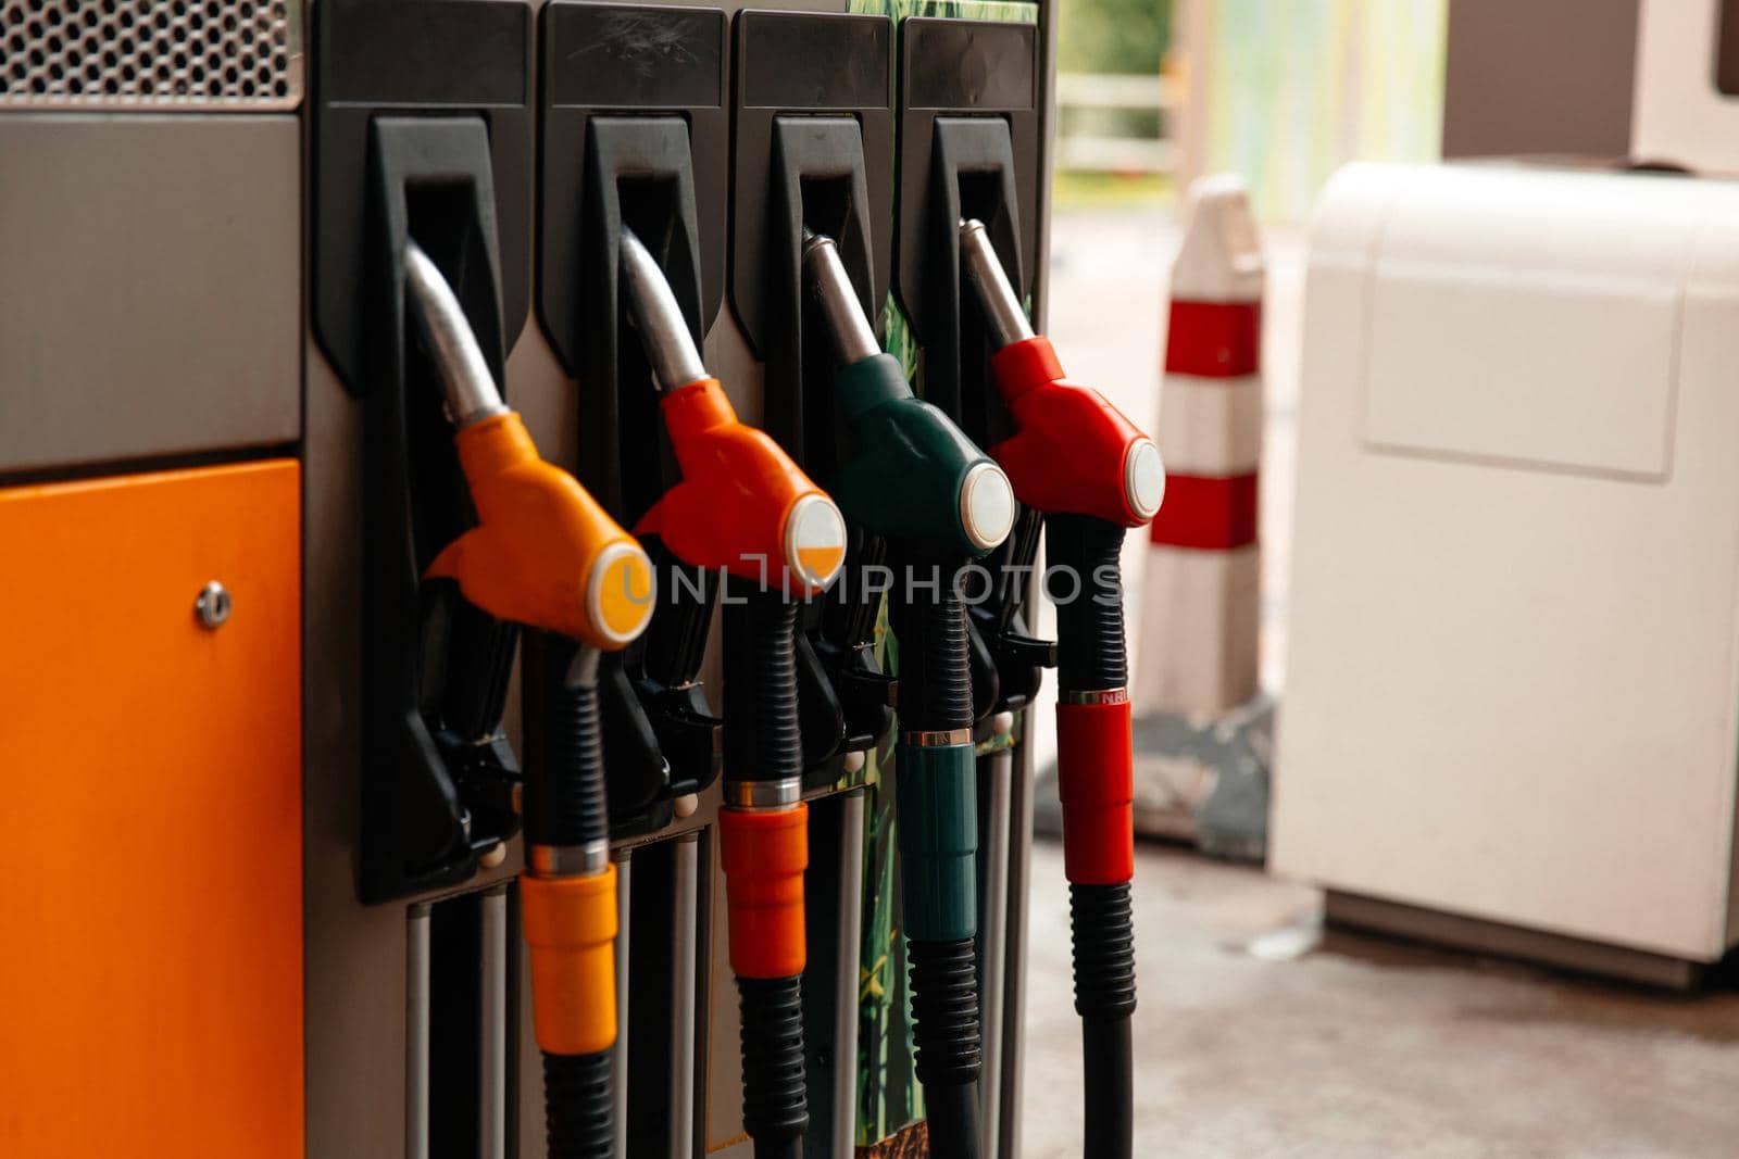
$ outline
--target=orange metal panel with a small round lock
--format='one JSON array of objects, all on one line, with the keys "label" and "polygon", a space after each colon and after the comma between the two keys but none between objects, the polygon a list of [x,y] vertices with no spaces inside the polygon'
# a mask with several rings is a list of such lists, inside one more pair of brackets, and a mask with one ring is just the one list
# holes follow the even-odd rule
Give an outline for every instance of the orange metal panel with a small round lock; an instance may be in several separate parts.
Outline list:
[{"label": "orange metal panel with a small round lock", "polygon": [[0,490],[0,1156],[303,1154],[297,490]]}]

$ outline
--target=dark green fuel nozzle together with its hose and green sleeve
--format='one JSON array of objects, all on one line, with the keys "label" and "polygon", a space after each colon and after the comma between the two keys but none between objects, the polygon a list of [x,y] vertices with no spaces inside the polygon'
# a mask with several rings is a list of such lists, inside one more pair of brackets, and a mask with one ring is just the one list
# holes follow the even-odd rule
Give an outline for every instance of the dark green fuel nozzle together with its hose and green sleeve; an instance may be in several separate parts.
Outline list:
[{"label": "dark green fuel nozzle together with its hose and green sleeve", "polygon": [[882,353],[831,238],[805,238],[803,273],[838,351],[835,398],[852,443],[830,487],[852,525],[890,544],[896,565],[901,900],[930,1154],[977,1159],[977,712],[958,584],[1009,535],[1014,492]]}]

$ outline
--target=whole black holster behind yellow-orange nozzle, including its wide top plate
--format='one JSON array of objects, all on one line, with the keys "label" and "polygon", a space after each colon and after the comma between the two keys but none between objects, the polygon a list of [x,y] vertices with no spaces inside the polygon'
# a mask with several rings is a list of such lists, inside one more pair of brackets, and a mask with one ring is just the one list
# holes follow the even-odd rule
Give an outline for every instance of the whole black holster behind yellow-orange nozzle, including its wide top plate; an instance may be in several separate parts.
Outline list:
[{"label": "whole black holster behind yellow-orange nozzle, including its wide top plate", "polygon": [[530,278],[530,7],[322,0],[313,12],[315,334],[363,408],[358,893],[468,881],[518,831],[501,735],[516,629],[424,582],[475,525],[403,254],[438,266],[496,382]]}]

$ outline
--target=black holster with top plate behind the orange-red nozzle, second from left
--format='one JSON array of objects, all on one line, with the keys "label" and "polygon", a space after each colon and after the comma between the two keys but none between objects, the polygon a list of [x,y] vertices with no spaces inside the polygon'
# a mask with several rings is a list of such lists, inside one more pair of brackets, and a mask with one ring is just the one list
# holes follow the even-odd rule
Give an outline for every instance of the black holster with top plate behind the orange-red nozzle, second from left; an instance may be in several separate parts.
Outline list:
[{"label": "black holster with top plate behind the orange-red nozzle, second from left", "polygon": [[[657,261],[699,346],[725,278],[725,16],[551,0],[541,21],[537,316],[581,384],[579,480],[635,527],[680,474],[630,321],[621,238],[633,229]],[[649,38],[682,52],[647,52]],[[706,789],[720,766],[720,723],[696,683],[718,577],[656,539],[645,547],[657,610],[598,672],[616,838],[668,825],[673,799]]]}]

